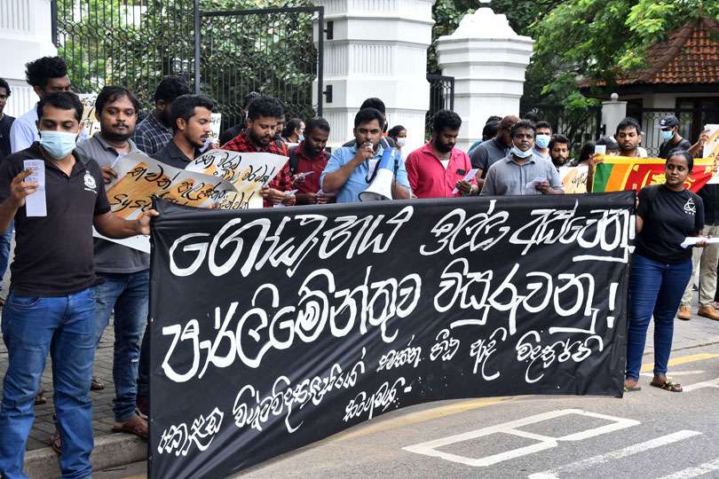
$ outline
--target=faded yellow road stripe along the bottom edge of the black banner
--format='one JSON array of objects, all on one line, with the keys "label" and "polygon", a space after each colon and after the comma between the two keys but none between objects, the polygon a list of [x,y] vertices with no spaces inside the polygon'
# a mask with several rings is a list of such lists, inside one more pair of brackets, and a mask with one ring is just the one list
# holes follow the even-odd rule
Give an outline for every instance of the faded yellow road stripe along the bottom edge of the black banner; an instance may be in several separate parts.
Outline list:
[{"label": "faded yellow road stripe along the bottom edge of the black banner", "polygon": [[377,422],[376,424],[371,424],[363,428],[344,431],[336,434],[335,436],[329,437],[322,442],[344,441],[345,439],[352,439],[354,437],[367,436],[368,434],[374,434],[389,429],[402,428],[404,426],[410,426],[419,422],[424,422],[426,420],[443,418],[451,414],[456,414],[457,412],[471,411],[472,409],[478,409],[480,407],[500,404],[505,401],[511,401],[516,398],[518,398],[518,396],[486,397],[483,399],[471,399],[469,401],[462,401],[461,403],[433,407],[424,411],[412,412],[399,418],[383,420],[381,422]]}]

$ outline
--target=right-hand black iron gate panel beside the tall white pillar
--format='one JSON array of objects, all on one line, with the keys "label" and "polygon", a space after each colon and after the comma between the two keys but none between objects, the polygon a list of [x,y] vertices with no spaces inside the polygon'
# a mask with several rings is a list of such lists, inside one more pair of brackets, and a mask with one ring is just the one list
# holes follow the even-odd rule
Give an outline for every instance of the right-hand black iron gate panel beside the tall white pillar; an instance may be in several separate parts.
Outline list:
[{"label": "right-hand black iron gate panel beside the tall white pillar", "polygon": [[280,98],[288,119],[322,114],[324,35],[315,49],[315,20],[324,24],[324,7],[200,12],[196,86],[217,101],[223,128],[241,121],[242,96],[249,91]]}]

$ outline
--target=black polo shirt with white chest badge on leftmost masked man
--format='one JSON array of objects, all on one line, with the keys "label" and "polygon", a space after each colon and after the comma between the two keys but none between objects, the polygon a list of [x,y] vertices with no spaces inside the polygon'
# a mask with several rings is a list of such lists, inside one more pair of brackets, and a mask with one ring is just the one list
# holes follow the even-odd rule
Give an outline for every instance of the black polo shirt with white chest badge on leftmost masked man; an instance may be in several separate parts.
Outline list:
[{"label": "black polo shirt with white chest badge on leftmost masked man", "polygon": [[[75,154],[70,177],[45,160],[47,216],[15,214],[15,259],[11,288],[19,296],[65,296],[98,284],[92,250],[92,221],[110,205],[98,163],[84,164]],[[36,142],[0,162],[0,201],[10,197],[10,184],[24,160],[43,160]]]}]

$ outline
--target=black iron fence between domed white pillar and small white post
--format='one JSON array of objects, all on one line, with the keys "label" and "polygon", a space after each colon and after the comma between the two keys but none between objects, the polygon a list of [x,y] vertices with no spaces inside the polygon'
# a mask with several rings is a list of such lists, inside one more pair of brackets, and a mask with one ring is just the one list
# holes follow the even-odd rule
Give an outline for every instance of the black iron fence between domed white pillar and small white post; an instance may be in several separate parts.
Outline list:
[{"label": "black iron fence between domed white pillar and small white post", "polygon": [[576,153],[581,145],[596,140],[604,134],[601,106],[589,106],[587,109],[570,110],[564,105],[522,104],[519,116],[528,113],[537,114],[541,120],[552,125],[552,131],[569,138]]}]

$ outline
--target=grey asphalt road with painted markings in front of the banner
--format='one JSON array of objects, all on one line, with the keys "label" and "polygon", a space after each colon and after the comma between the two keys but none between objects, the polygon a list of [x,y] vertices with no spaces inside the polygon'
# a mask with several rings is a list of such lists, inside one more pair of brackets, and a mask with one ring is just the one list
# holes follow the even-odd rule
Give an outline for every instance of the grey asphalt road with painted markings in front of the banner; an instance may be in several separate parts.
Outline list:
[{"label": "grey asphalt road with painted markings in front of the banner", "polygon": [[[646,371],[651,353],[648,348]],[[669,375],[684,393],[649,387],[644,376],[643,389],[623,399],[505,397],[414,406],[242,476],[719,477],[719,323],[677,323]],[[96,477],[144,477],[144,467]]]}]

